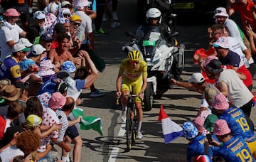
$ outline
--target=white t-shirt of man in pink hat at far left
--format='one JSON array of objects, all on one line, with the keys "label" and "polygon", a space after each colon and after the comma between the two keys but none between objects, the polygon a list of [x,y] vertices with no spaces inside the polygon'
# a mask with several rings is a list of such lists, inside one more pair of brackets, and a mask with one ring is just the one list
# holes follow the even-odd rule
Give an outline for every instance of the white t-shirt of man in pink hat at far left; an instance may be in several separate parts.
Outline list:
[{"label": "white t-shirt of man in pink hat at far left", "polygon": [[14,40],[15,43],[19,40],[19,35],[23,32],[22,28],[17,24],[4,21],[4,25],[0,29],[0,47],[1,47],[1,60],[11,55],[12,51],[7,42]]}]

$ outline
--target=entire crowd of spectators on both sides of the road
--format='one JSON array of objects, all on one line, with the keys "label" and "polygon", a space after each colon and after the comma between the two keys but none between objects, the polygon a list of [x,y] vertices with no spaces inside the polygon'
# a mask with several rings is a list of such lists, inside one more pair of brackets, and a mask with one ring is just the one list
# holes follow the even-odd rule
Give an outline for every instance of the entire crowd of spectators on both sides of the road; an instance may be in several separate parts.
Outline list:
[{"label": "entire crowd of spectators on both sides of the road", "polygon": [[[53,144],[62,148],[62,161],[70,161],[71,141],[73,161],[80,161],[82,139],[75,124],[81,117],[71,120],[70,112],[80,104],[82,89],[90,88],[90,97],[105,95],[95,88],[102,70],[90,55],[95,54],[94,36],[107,36],[101,28],[105,6],[110,27],[119,27],[117,1],[112,5],[95,0],[44,2],[38,1],[39,10],[33,12],[31,1],[18,0],[4,13],[0,29],[2,161],[52,161]],[[182,126],[189,141],[187,161],[255,161],[255,127],[250,119],[255,97],[255,10],[249,0],[230,0],[227,8],[215,9],[215,24],[208,28],[210,52],[194,55],[201,72],[188,82],[171,79],[172,85],[202,94],[196,118]],[[229,18],[235,11],[240,13],[241,28]],[[29,13],[33,22],[28,23]],[[20,17],[22,26],[17,24]]]}]

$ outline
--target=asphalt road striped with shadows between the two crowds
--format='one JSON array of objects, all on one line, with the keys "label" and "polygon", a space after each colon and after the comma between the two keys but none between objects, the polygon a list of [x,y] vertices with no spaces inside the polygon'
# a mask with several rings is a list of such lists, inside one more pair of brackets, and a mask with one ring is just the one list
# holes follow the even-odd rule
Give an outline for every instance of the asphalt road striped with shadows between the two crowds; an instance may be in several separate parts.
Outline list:
[{"label": "asphalt road striped with shadows between the two crowds", "polygon": [[[119,0],[117,13],[121,26],[110,28],[109,22],[102,24],[103,28],[110,33],[107,37],[95,37],[97,54],[104,58],[107,68],[95,82],[95,87],[104,91],[104,97],[90,97],[90,90],[82,92],[82,104],[85,115],[102,118],[103,136],[96,131],[80,131],[82,136],[81,161],[186,161],[186,144],[184,138],[178,138],[171,144],[164,144],[161,132],[161,123],[158,120],[161,104],[169,117],[177,124],[191,121],[198,111],[201,95],[181,87],[174,87],[164,94],[164,97],[154,102],[151,112],[144,112],[142,134],[144,138],[136,141],[132,150],[126,151],[124,124],[120,119],[121,107],[115,105],[114,93],[116,91],[115,81],[119,70],[120,61],[126,57],[122,52],[122,45],[129,42],[129,37],[124,35],[125,31],[135,32],[136,23],[136,0]],[[188,14],[189,15],[189,14]],[[179,18],[179,17],[178,17]],[[181,18],[181,17],[180,17]],[[201,18],[201,23],[196,22],[199,17],[193,16],[181,18],[183,22],[178,25],[180,35],[178,40],[186,45],[186,64],[181,77],[187,80],[193,72],[199,72],[197,65],[193,65],[193,53],[198,48],[207,48],[207,27],[205,22],[213,21]],[[201,24],[201,25],[195,25]],[[255,109],[252,110],[252,120]],[[58,146],[55,146],[60,150]],[[60,158],[55,151],[53,153]],[[71,153],[72,154],[72,153]]]}]

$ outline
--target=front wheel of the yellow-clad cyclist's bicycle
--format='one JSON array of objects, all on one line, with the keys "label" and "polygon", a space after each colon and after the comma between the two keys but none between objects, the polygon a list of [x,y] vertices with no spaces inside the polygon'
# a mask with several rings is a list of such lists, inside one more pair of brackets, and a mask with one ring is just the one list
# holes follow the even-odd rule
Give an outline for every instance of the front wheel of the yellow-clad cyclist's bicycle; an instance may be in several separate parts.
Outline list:
[{"label": "front wheel of the yellow-clad cyclist's bicycle", "polygon": [[127,119],[126,119],[126,137],[127,137],[127,149],[132,148],[132,131],[133,131],[132,111],[131,107],[127,107]]}]

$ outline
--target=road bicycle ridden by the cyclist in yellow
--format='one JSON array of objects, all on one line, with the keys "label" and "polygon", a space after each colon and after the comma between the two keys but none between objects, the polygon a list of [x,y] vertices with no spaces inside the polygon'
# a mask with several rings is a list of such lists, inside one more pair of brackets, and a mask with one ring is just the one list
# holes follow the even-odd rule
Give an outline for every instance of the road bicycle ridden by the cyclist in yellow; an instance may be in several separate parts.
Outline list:
[{"label": "road bicycle ridden by the cyclist in yellow", "polygon": [[[127,151],[130,151],[132,148],[132,144],[135,143],[137,134],[137,110],[135,108],[134,102],[134,97],[137,97],[137,95],[132,95],[132,92],[130,92],[130,95],[122,95],[122,97],[128,97],[125,129],[127,139]],[[118,101],[119,99],[117,99],[117,104]]]}]

